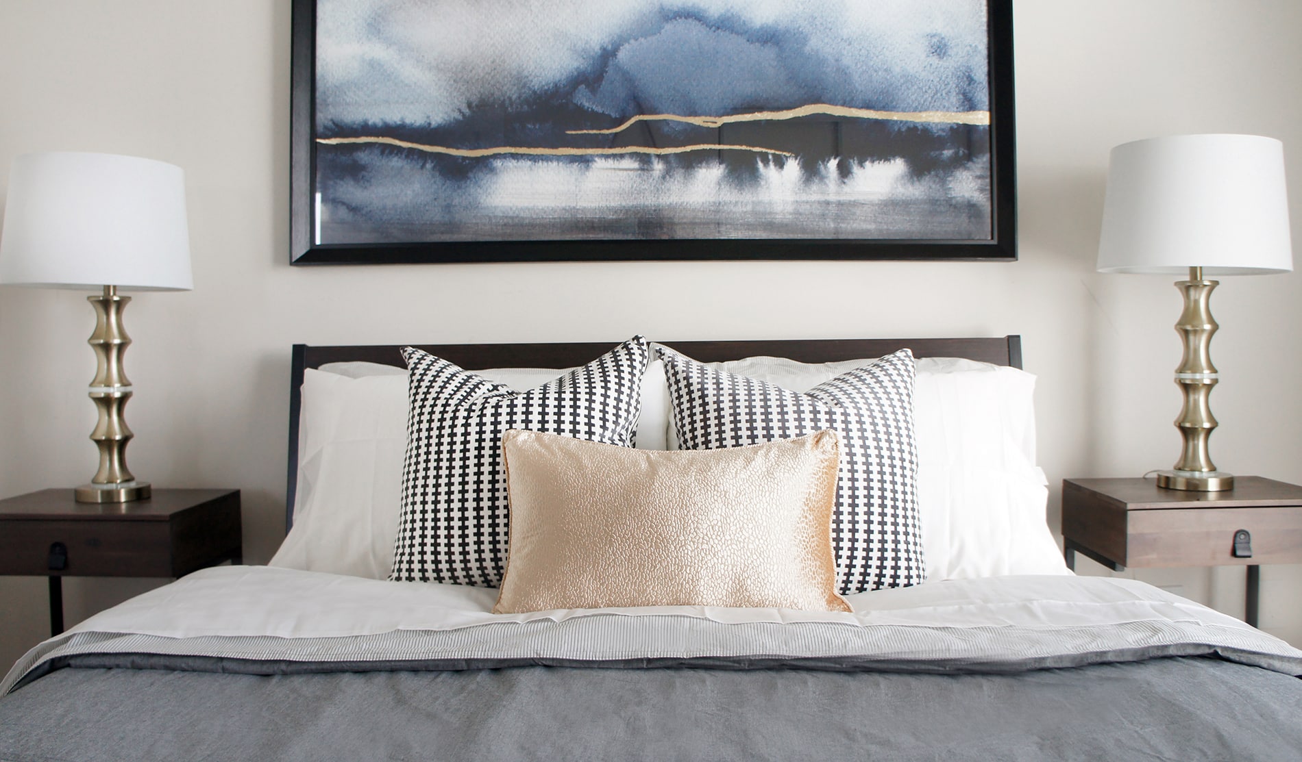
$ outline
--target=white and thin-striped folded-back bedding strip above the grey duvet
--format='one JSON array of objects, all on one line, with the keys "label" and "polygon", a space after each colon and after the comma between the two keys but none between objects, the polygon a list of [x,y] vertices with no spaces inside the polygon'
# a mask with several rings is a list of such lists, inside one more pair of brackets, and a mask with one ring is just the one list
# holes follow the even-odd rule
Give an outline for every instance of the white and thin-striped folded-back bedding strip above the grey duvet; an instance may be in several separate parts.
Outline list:
[{"label": "white and thin-striped folded-back bedding strip above the grey duvet", "polygon": [[[492,614],[495,590],[272,567],[195,572],[33,649],[0,690],[89,654],[223,670],[521,664],[1016,672],[1216,655],[1302,675],[1302,651],[1134,580],[988,577],[846,596],[853,611],[648,606]],[[260,666],[270,664],[270,666]],[[290,666],[286,666],[290,664]],[[263,672],[263,670],[267,670]]]}]

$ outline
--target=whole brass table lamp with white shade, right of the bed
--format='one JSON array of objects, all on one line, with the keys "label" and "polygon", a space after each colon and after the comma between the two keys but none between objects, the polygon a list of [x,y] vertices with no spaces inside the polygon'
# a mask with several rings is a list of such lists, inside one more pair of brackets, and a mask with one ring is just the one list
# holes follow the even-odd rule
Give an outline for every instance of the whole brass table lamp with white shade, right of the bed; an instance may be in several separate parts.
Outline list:
[{"label": "whole brass table lamp with white shade, right of the bed", "polygon": [[1185,355],[1176,368],[1184,407],[1176,428],[1184,450],[1165,489],[1220,492],[1234,477],[1217,471],[1207,440],[1216,428],[1208,404],[1219,381],[1210,345],[1219,328],[1208,308],[1219,281],[1208,276],[1293,269],[1284,146],[1256,135],[1174,135],[1112,150],[1099,272],[1182,274],[1185,311],[1176,322]]}]

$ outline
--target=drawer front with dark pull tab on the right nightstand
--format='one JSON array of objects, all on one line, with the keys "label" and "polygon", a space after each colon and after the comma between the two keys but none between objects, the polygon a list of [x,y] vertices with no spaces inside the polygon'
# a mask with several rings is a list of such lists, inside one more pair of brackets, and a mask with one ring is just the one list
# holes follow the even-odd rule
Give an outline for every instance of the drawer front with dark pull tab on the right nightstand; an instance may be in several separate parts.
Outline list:
[{"label": "drawer front with dark pull tab on the right nightstand", "polygon": [[[1295,563],[1302,557],[1302,506],[1128,511],[1124,566],[1182,567]],[[1236,558],[1234,532],[1253,536],[1253,557]]]}]

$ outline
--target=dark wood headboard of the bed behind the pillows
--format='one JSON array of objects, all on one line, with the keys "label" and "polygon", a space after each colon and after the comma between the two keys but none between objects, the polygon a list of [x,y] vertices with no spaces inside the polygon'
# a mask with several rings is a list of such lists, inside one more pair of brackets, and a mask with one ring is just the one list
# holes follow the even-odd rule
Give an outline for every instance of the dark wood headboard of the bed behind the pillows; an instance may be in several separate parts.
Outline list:
[{"label": "dark wood headboard of the bed behind the pillows", "polygon": [[[285,490],[285,528],[294,519],[298,488],[298,415],[303,371],[327,363],[363,360],[405,367],[402,347],[414,346],[470,371],[484,368],[573,368],[602,356],[618,342],[516,343],[516,345],[294,345],[289,386],[289,473]],[[909,347],[917,358],[967,358],[996,365],[1022,367],[1022,337],[996,338],[833,338],[777,341],[660,342],[702,363],[721,363],[756,355],[790,358],[802,363],[833,363],[880,358]]]}]

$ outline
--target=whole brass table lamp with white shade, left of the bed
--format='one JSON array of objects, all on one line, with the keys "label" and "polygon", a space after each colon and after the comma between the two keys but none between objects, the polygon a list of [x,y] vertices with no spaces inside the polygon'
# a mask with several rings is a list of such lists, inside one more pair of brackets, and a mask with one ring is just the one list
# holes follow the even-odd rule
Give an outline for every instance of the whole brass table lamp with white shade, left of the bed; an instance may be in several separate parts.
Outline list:
[{"label": "whole brass table lamp with white shade, left of the bed", "polygon": [[99,423],[90,438],[99,471],[77,488],[78,502],[125,503],[150,497],[150,485],[126,467],[132,429],[122,408],[132,382],[122,355],[132,343],[122,328],[130,296],[118,289],[193,289],[185,217],[185,181],[178,166],[109,153],[27,153],[13,160],[0,238],[0,283],[98,290],[98,369],[90,398]]}]

